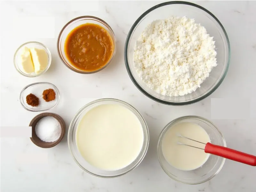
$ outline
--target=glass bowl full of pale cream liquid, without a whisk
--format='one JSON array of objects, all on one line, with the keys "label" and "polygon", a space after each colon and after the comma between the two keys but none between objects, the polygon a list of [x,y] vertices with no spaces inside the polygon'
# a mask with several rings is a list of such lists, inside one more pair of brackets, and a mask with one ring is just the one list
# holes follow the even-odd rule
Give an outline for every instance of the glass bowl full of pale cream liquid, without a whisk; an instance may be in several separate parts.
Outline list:
[{"label": "glass bowl full of pale cream liquid, without a whisk", "polygon": [[104,178],[135,169],[148,150],[148,126],[140,113],[116,99],[95,100],[70,123],[68,147],[86,172]]}]

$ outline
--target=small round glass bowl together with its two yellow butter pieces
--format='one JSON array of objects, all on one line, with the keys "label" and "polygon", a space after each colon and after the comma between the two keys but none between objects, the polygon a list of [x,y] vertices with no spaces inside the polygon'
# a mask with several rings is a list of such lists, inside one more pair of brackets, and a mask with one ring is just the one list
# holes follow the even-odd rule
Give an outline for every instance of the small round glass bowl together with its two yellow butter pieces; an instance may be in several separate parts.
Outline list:
[{"label": "small round glass bowl together with its two yellow butter pieces", "polygon": [[45,73],[52,61],[51,52],[42,43],[30,41],[20,45],[14,54],[14,66],[26,77],[36,77]]}]

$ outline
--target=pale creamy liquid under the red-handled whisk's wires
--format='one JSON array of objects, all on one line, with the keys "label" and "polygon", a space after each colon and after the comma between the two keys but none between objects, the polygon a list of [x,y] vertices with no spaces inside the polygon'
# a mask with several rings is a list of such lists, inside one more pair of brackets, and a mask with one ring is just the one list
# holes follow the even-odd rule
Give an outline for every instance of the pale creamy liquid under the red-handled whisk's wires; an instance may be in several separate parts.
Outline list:
[{"label": "pale creamy liquid under the red-handled whisk's wires", "polygon": [[205,153],[202,149],[180,145],[178,142],[199,148],[204,148],[205,145],[180,138],[177,134],[207,143],[210,142],[207,132],[198,124],[187,122],[178,123],[167,130],[162,141],[163,155],[170,165],[184,171],[201,167],[207,161],[209,154]]}]

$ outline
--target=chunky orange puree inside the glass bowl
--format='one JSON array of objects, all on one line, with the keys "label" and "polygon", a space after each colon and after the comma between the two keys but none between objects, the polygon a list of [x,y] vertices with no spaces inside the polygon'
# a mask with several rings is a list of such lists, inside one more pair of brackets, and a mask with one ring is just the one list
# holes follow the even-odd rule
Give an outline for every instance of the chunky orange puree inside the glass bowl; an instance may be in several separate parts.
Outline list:
[{"label": "chunky orange puree inside the glass bowl", "polygon": [[67,36],[64,52],[69,62],[82,71],[104,67],[113,54],[113,42],[103,27],[86,23],[74,28]]}]

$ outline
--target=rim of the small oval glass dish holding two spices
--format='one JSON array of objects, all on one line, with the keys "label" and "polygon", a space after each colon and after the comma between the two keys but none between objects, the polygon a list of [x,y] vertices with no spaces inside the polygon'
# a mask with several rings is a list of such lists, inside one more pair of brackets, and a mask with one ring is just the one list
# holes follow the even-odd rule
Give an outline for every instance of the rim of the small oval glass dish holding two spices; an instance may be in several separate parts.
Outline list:
[{"label": "rim of the small oval glass dish holding two spices", "polygon": [[[51,108],[48,108],[48,109],[29,109],[29,108],[27,108],[27,107],[24,105],[24,103],[22,102],[22,101],[23,101],[23,100],[22,100],[22,93],[23,93],[28,87],[30,87],[30,86],[32,86],[32,85],[37,85],[37,84],[49,84],[49,85],[51,85],[51,86],[55,89],[55,91],[57,92],[57,93],[56,93],[56,94],[58,95],[57,101],[56,101],[55,105],[53,105]],[[20,104],[21,104],[21,106],[22,106],[24,109],[26,109],[26,110],[28,110],[28,111],[33,111],[33,112],[47,111],[47,110],[50,110],[50,109],[53,109],[54,107],[56,107],[56,106],[59,104],[59,102],[60,102],[60,91],[59,91],[59,89],[58,89],[54,84],[49,83],[49,82],[37,82],[37,83],[28,84],[28,85],[25,86],[25,87],[21,90],[21,92],[20,92]]]}]

